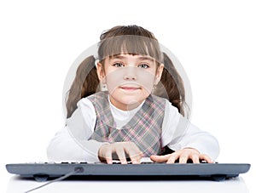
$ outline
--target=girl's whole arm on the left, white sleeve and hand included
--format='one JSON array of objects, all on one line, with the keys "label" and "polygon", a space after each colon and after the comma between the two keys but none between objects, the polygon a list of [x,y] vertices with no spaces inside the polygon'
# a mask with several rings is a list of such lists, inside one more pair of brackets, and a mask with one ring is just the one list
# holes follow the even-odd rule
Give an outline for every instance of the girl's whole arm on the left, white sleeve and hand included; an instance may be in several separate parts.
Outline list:
[{"label": "girl's whole arm on the left, white sleeve and hand included", "polygon": [[102,143],[90,139],[96,124],[94,106],[88,99],[82,99],[78,109],[67,119],[67,126],[55,134],[49,143],[47,154],[50,161],[107,162],[112,163],[112,154],[117,154],[121,163],[127,163],[125,153],[131,162],[137,163],[142,152],[133,142]]}]

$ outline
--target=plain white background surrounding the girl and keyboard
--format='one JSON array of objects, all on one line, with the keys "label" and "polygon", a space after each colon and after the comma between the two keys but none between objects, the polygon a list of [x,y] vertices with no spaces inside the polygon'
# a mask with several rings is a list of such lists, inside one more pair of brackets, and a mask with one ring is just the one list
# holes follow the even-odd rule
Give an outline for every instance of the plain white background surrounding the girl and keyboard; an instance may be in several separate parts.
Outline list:
[{"label": "plain white background surrounding the girl and keyboard", "polygon": [[192,122],[218,138],[218,162],[252,164],[242,177],[256,190],[255,10],[253,0],[1,0],[1,192],[12,176],[6,163],[47,160],[49,139],[64,125],[62,88],[73,61],[102,31],[132,24],[176,55],[192,87]]}]

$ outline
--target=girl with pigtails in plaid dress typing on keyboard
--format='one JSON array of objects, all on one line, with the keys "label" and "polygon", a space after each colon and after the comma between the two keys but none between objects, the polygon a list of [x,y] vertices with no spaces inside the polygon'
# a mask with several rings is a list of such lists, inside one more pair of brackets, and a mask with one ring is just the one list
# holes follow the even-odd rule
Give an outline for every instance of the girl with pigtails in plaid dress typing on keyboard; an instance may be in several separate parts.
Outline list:
[{"label": "girl with pigtails in plaid dress typing on keyboard", "polygon": [[51,161],[213,162],[218,141],[185,118],[183,81],[154,35],[140,26],[102,33],[98,56],[77,70],[67,125],[48,146]]}]

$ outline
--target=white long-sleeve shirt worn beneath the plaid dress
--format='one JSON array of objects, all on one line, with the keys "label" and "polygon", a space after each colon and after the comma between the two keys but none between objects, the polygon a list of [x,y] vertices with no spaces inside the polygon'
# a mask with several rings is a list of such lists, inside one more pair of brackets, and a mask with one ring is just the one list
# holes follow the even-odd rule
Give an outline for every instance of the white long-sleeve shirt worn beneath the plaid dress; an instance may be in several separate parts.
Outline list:
[{"label": "white long-sleeve shirt worn beneath the plaid dress", "polygon": [[[139,105],[132,111],[121,111],[108,100],[117,128],[121,129],[141,108]],[[90,139],[96,126],[96,111],[89,99],[80,99],[78,109],[67,119],[62,128],[51,139],[47,148],[49,161],[63,162],[99,162],[98,150],[102,142]],[[218,140],[210,133],[191,124],[180,115],[177,108],[166,100],[164,121],[162,124],[161,145],[172,150],[190,147],[207,154],[215,160],[219,153]]]}]

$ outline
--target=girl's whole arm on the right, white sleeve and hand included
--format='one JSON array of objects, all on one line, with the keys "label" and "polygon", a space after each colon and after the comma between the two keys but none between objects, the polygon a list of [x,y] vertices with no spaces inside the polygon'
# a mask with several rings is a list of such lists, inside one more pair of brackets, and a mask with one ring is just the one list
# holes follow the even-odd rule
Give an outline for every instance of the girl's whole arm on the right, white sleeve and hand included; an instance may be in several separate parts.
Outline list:
[{"label": "girl's whole arm on the right, white sleeve and hand included", "polygon": [[188,159],[212,162],[219,151],[217,139],[191,124],[169,102],[166,103],[162,145],[176,152],[172,156],[153,156],[155,162],[175,162],[177,159],[179,162],[187,162]]}]

